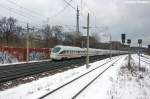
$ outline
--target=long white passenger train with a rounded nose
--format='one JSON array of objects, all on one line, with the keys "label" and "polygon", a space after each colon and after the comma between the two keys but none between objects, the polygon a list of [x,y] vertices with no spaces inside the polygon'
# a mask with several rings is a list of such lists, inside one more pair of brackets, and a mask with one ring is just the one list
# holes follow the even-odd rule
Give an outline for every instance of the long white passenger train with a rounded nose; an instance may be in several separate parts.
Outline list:
[{"label": "long white passenger train with a rounded nose", "polygon": [[[126,51],[118,51],[118,50],[111,50],[112,54],[117,53],[126,53]],[[95,55],[107,55],[110,54],[110,50],[104,49],[89,49],[89,56]],[[57,45],[51,51],[51,59],[52,60],[62,60],[62,59],[71,59],[71,58],[80,58],[86,56],[86,48],[80,47],[72,47],[72,46],[63,46]]]}]

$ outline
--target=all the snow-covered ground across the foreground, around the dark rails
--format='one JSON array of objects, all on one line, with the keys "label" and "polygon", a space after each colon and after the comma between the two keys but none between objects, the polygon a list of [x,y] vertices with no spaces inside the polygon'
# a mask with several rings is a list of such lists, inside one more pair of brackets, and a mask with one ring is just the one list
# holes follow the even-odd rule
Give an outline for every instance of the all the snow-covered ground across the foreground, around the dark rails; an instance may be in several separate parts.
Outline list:
[{"label": "all the snow-covered ground across the foreground, around the dark rails", "polygon": [[[109,68],[101,77],[84,90],[77,99],[149,99],[150,97],[150,66],[141,62],[143,68],[138,69],[138,56],[132,55],[132,69],[127,68],[127,56]],[[118,57],[114,57],[117,60]],[[90,68],[85,66],[58,73],[50,77],[40,78],[31,83],[22,84],[0,92],[0,99],[37,99],[58,86],[82,75],[83,73],[109,61],[105,59],[91,63]],[[112,62],[111,62],[112,63]],[[111,64],[110,63],[110,64]],[[83,77],[80,81],[72,83],[67,88],[51,94],[47,99],[70,99],[79,88],[81,89],[89,80],[108,67],[108,64],[93,73]]]}]

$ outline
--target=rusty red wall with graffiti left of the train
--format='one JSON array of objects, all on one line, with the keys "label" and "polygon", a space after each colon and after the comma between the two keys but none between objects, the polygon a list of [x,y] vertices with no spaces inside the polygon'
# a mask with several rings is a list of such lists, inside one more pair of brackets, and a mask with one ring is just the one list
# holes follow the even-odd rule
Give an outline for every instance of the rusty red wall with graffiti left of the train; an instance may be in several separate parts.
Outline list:
[{"label": "rusty red wall with graffiti left of the train", "polygon": [[[50,59],[50,48],[29,48],[29,60]],[[18,61],[26,61],[26,48],[0,47],[0,52],[6,52],[13,55]]]}]

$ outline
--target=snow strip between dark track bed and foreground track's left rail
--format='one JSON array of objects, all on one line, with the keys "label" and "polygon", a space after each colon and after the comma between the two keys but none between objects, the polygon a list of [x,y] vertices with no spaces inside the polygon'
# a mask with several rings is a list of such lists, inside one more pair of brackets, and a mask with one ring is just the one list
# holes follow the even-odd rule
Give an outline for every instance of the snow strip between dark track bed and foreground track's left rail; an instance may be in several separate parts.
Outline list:
[{"label": "snow strip between dark track bed and foreground track's left rail", "polygon": [[71,69],[63,73],[58,73],[50,77],[40,78],[37,81],[2,91],[0,92],[0,99],[27,99],[27,97],[36,94],[39,91],[47,93],[49,90],[57,88],[63,83],[76,78],[77,76],[105,63],[106,61],[109,61],[109,58],[91,63],[91,67],[88,70],[85,68],[85,66],[81,66],[79,68]]}]

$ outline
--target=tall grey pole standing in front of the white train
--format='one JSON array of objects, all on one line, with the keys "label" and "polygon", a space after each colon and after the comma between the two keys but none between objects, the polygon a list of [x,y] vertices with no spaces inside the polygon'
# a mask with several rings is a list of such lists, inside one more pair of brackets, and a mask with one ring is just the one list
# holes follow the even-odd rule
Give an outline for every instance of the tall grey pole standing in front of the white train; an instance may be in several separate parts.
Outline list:
[{"label": "tall grey pole standing in front of the white train", "polygon": [[87,16],[87,57],[86,57],[86,68],[89,68],[89,13]]}]

